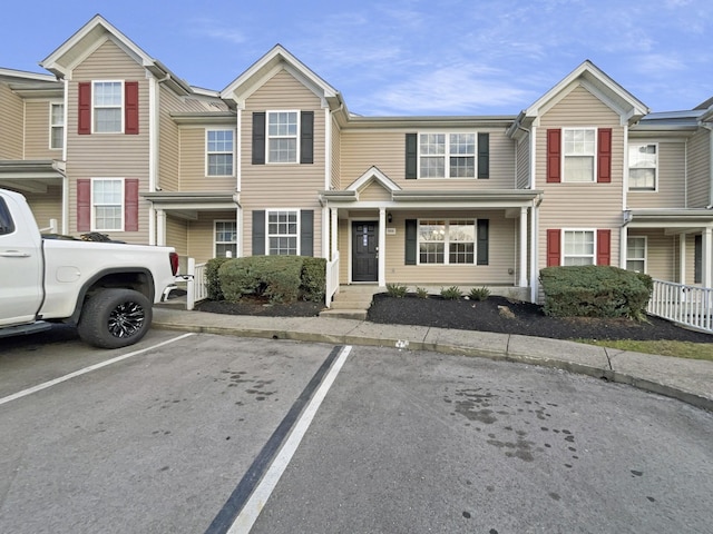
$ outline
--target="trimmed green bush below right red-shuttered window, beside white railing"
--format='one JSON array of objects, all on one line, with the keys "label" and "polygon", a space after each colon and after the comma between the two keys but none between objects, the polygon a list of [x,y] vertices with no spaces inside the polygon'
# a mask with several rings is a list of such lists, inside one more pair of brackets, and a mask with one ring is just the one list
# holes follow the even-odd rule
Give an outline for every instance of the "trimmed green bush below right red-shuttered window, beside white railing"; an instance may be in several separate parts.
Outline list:
[{"label": "trimmed green bush below right red-shuttered window, beside white railing", "polygon": [[544,312],[555,317],[643,319],[653,280],[648,275],[611,266],[547,267],[539,276]]}]

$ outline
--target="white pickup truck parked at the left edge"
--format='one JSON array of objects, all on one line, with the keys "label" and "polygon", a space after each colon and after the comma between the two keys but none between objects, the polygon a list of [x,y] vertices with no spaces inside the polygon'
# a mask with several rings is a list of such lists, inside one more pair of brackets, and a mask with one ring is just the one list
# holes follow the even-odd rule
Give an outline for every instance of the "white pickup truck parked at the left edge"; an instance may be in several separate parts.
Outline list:
[{"label": "white pickup truck parked at the left edge", "polygon": [[0,189],[0,337],[68,323],[90,345],[131,345],[177,269],[169,247],[43,238],[25,197]]}]

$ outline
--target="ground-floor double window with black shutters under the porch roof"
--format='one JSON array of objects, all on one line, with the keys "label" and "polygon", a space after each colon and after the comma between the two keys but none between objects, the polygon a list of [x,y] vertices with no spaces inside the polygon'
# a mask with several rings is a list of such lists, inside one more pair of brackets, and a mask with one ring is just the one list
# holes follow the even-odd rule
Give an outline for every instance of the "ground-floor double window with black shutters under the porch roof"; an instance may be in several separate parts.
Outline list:
[{"label": "ground-floor double window with black shutters under the porch roof", "polygon": [[420,220],[419,264],[473,264],[475,220]]}]

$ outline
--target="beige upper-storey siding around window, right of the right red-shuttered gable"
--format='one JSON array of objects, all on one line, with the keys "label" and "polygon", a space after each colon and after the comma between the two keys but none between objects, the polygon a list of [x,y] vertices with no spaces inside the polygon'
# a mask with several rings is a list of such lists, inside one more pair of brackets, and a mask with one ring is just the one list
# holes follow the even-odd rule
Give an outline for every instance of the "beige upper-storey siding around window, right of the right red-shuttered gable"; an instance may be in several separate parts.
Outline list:
[{"label": "beige upper-storey siding around window, right of the right red-shuttered gable", "polygon": [[[629,142],[639,142],[631,139]],[[652,142],[652,141],[641,141]],[[628,191],[629,208],[683,208],[686,191],[686,152],[685,142],[660,141],[658,177],[655,191]]]}]

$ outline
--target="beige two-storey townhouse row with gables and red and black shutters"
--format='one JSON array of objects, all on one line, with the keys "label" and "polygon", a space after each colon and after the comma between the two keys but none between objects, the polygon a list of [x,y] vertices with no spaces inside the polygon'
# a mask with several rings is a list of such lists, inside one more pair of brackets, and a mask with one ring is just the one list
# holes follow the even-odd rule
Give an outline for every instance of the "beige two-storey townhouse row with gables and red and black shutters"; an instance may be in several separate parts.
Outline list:
[{"label": "beige two-storey townhouse row with gables and red and black shutters", "polygon": [[533,301],[553,265],[713,287],[713,99],[651,112],[584,61],[511,116],[362,117],[279,44],[207,90],[101,16],[40,65],[0,69],[0,187],[60,234]]}]

